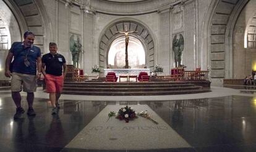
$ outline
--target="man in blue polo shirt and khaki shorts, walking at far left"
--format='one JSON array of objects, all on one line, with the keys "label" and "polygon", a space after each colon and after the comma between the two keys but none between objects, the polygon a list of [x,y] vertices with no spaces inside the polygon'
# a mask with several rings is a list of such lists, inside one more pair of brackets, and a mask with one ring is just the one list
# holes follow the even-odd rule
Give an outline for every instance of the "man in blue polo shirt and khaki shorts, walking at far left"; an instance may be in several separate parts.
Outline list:
[{"label": "man in blue polo shirt and khaki shorts, walking at far left", "polygon": [[[21,106],[20,91],[27,92],[28,116],[35,116],[33,110],[34,92],[36,91],[36,79],[41,76],[41,50],[33,46],[35,34],[26,31],[23,34],[23,42],[14,42],[6,57],[6,77],[11,78],[12,99],[16,105],[14,119],[18,119],[25,111]],[[14,60],[12,61],[12,58]],[[36,74],[36,65],[38,73]]]}]

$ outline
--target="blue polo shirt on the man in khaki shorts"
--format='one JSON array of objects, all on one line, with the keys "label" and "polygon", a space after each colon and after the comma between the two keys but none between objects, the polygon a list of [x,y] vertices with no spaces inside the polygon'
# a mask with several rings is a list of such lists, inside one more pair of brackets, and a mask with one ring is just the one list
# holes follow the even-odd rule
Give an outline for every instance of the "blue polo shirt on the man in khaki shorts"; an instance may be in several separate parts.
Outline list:
[{"label": "blue polo shirt on the man in khaki shorts", "polygon": [[[39,47],[31,46],[24,47],[23,42],[14,42],[9,50],[14,55],[12,72],[22,74],[36,74],[36,60],[41,56],[41,50]],[[25,66],[24,58],[27,55],[30,66]]]}]

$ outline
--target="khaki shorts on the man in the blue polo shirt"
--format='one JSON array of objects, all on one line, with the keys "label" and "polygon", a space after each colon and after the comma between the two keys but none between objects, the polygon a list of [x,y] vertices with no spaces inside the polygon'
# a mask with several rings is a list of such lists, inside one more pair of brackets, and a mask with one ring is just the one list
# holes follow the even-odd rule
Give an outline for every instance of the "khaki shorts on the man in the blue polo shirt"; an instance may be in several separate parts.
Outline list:
[{"label": "khaki shorts on the man in the blue polo shirt", "polygon": [[11,91],[12,92],[35,92],[36,76],[30,74],[12,73]]}]

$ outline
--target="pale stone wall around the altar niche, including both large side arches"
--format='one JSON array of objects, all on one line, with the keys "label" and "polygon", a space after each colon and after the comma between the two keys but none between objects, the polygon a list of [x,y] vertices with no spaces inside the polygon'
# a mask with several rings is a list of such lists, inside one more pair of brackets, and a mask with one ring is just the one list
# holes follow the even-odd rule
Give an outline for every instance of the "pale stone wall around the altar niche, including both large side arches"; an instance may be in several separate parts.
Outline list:
[{"label": "pale stone wall around the altar niche, including both large side arches", "polygon": [[[44,53],[48,52],[48,43],[55,41],[59,52],[70,64],[70,34],[80,36],[83,46],[80,68],[85,73],[90,73],[93,65],[100,64],[103,58],[100,41],[109,26],[126,20],[147,28],[154,42],[151,56],[147,57],[152,62],[148,62],[147,66],[160,64],[164,67],[164,74],[169,74],[169,69],[173,67],[172,40],[178,33],[184,34],[182,62],[187,66],[186,70],[195,70],[199,66],[202,70],[209,68],[213,85],[222,84],[224,78],[241,77],[239,70],[233,68],[239,62],[233,59],[246,60],[244,65],[247,67],[242,73],[247,74],[251,69],[250,60],[254,57],[253,49],[245,50],[245,54],[237,51],[242,49],[241,29],[244,28],[238,22],[234,28],[239,12],[249,0],[155,0],[127,4],[95,0],[90,1],[90,6],[84,5],[86,1],[77,0],[4,1],[13,6],[14,15],[20,15],[18,23],[21,33],[27,29],[35,32],[35,44]],[[246,19],[251,13],[247,10],[240,17]],[[234,46],[233,28],[236,37]]]}]

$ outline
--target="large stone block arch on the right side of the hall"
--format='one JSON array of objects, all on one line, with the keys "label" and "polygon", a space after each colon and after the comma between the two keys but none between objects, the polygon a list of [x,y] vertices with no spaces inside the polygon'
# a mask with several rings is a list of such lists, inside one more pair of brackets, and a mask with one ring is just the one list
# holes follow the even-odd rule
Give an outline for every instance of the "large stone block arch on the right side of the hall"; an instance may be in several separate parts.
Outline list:
[{"label": "large stone block arch on the right side of the hall", "polygon": [[[216,86],[233,78],[233,30],[242,8],[249,0],[211,1],[204,25],[201,48],[207,54],[210,80]],[[203,55],[202,54],[202,55]]]}]

